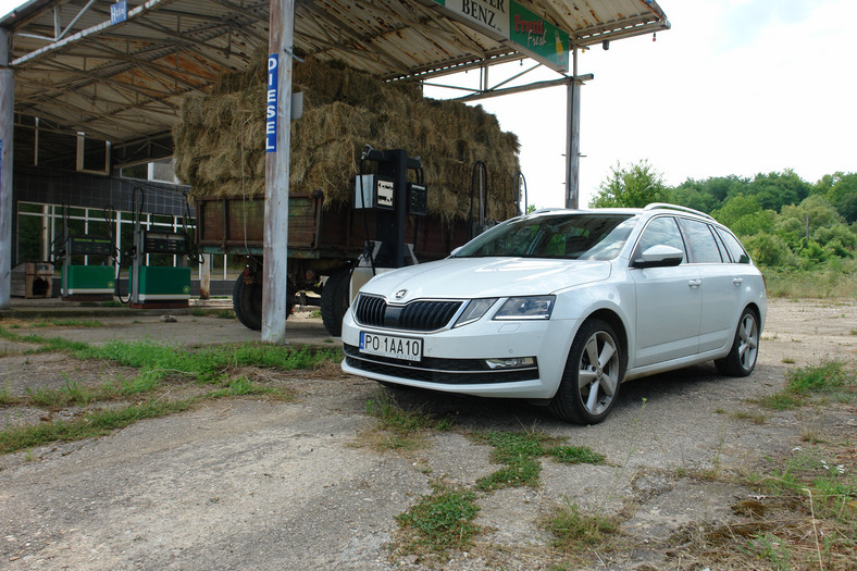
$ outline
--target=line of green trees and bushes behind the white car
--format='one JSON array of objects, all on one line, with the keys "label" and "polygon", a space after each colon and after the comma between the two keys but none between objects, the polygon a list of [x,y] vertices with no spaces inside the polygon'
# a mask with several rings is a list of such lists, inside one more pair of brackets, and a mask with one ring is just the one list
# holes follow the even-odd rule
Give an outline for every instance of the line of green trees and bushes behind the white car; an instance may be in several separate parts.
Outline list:
[{"label": "line of green trees and bushes behind the white car", "polygon": [[857,253],[857,173],[824,175],[815,184],[794,171],[754,177],[688,178],[670,187],[647,161],[617,164],[589,201],[592,208],[642,208],[671,202],[729,226],[759,265],[811,270]]}]

